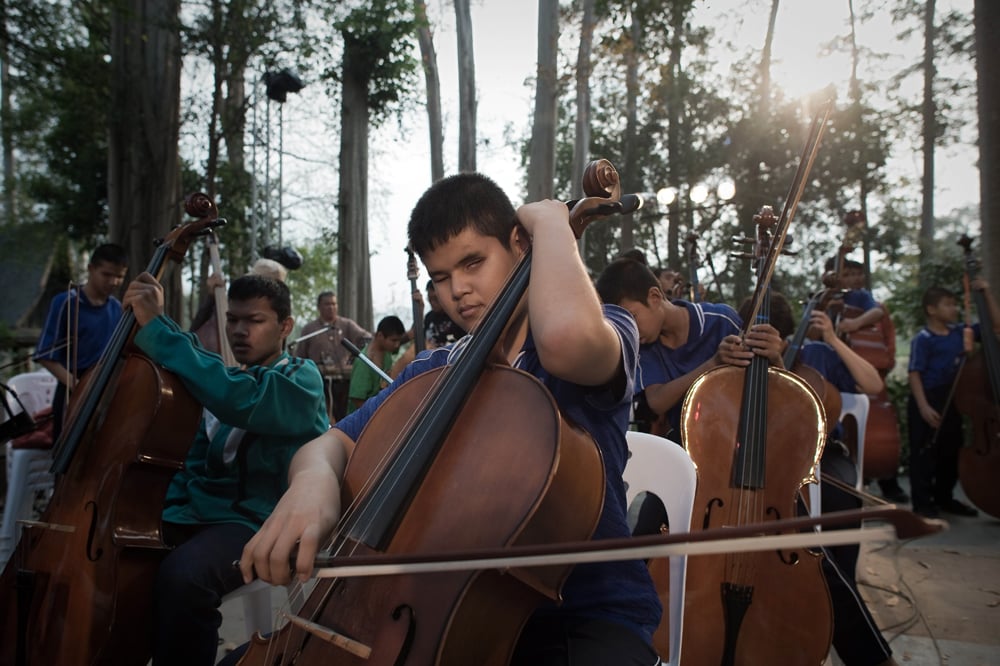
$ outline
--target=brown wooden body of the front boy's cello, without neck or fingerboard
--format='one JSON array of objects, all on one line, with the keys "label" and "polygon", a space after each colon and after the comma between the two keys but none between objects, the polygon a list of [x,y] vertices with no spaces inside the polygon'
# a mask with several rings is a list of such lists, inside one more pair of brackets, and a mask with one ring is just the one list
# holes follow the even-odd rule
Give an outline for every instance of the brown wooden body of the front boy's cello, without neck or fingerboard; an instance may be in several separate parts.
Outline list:
[{"label": "brown wooden body of the front boy's cello, without neck or fingerboard", "polygon": [[[405,421],[442,370],[410,380],[379,408],[351,456],[344,506],[370,492]],[[497,404],[499,399],[507,404]],[[379,418],[379,415],[388,418]],[[586,540],[603,506],[604,471],[593,439],[563,421],[552,396],[510,367],[486,370],[385,547],[353,555],[432,553]],[[242,665],[504,666],[522,624],[558,598],[570,567],[320,581],[298,617],[347,640],[289,623],[256,638]]]}]

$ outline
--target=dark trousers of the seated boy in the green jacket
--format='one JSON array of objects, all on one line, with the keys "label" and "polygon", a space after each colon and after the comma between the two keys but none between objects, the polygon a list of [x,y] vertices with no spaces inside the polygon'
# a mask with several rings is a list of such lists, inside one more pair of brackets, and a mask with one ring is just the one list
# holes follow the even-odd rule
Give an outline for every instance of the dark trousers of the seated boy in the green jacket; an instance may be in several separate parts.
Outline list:
[{"label": "dark trousers of the seated boy in the green jacket", "polygon": [[156,575],[153,664],[210,666],[219,646],[222,597],[243,585],[233,562],[254,535],[245,525],[164,524],[176,547]]}]

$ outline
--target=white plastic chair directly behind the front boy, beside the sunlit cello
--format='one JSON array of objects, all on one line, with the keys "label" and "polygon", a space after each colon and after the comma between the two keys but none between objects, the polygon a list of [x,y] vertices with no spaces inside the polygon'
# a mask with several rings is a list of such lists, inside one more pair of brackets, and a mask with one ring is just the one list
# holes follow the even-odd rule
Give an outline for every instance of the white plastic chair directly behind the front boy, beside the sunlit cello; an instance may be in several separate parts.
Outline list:
[{"label": "white plastic chair directly behind the front boy, beside the sunlit cello", "polygon": [[[629,431],[625,437],[629,460],[625,465],[625,497],[631,504],[640,492],[656,495],[663,502],[670,521],[670,532],[687,532],[698,476],[691,456],[679,444],[644,432]],[[681,637],[684,633],[684,588],[687,556],[670,558],[670,655],[664,662],[680,663]]]}]

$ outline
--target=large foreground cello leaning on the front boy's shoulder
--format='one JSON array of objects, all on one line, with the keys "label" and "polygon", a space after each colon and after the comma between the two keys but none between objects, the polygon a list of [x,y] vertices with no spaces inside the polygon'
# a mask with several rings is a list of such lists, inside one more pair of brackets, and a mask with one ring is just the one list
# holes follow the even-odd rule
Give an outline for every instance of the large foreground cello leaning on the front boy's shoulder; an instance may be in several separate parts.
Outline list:
[{"label": "large foreground cello leaning on the front boy's shoulder", "polygon": [[[584,190],[590,196],[570,216],[577,235],[587,218],[634,209],[620,203],[606,161],[588,167]],[[606,485],[599,449],[503,349],[530,254],[457,357],[395,386],[368,421],[344,474],[350,508],[331,553],[586,539],[596,526]],[[513,330],[524,323],[517,316]],[[288,624],[253,639],[241,663],[505,664],[527,616],[557,598],[568,573],[556,566],[322,580]]]}]

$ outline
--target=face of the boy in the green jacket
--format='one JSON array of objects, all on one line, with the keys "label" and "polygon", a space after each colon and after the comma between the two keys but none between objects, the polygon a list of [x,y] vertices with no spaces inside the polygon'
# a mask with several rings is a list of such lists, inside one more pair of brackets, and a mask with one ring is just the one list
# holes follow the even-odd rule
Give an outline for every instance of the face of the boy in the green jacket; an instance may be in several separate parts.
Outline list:
[{"label": "face of the boy in the green jacket", "polygon": [[229,300],[226,337],[233,356],[245,365],[270,365],[281,353],[294,320],[278,321],[278,313],[263,296],[245,301]]}]

